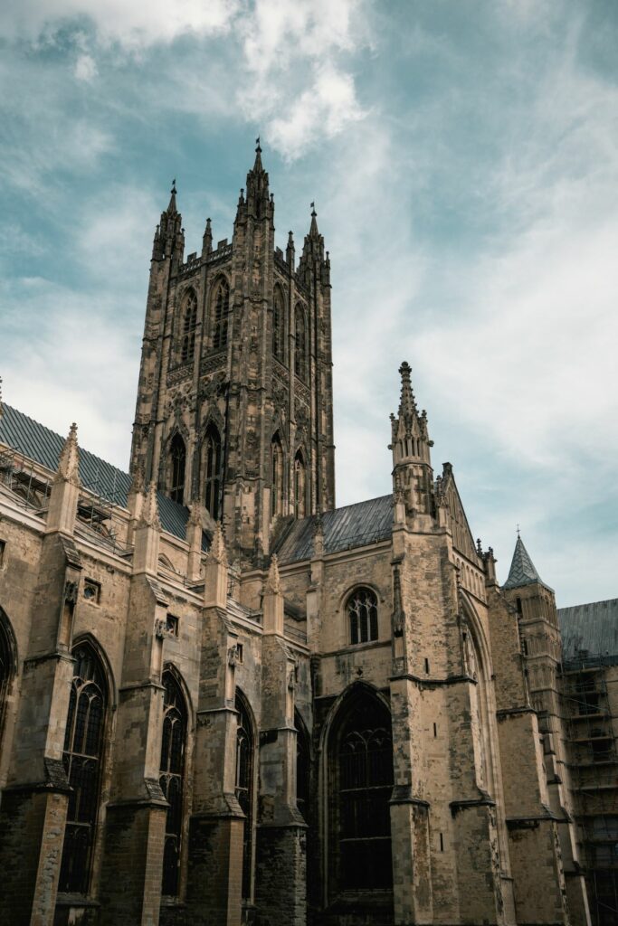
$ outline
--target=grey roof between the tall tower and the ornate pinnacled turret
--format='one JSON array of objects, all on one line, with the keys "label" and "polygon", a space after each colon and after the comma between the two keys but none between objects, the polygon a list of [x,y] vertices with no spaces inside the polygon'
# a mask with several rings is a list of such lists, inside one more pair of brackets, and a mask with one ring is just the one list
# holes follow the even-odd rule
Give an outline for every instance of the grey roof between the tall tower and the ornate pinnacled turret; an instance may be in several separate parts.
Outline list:
[{"label": "grey roof between the tall tower and the ornate pinnacled turret", "polygon": [[[324,552],[338,553],[357,546],[389,540],[393,524],[392,495],[370,498],[322,514]],[[277,544],[279,562],[294,563],[310,559],[317,515],[292,522],[290,530]]]}]

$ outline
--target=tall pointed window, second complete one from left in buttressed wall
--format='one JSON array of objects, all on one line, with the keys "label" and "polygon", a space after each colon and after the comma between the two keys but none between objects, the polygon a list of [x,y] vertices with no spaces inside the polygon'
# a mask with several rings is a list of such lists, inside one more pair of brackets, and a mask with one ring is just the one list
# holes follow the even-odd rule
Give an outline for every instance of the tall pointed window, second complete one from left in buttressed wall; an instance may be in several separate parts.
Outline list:
[{"label": "tall pointed window, second complete one from left in buttressed wall", "polygon": [[163,737],[158,782],[170,807],[165,820],[161,893],[178,894],[183,832],[183,770],[187,716],[180,685],[168,670],[163,672]]}]

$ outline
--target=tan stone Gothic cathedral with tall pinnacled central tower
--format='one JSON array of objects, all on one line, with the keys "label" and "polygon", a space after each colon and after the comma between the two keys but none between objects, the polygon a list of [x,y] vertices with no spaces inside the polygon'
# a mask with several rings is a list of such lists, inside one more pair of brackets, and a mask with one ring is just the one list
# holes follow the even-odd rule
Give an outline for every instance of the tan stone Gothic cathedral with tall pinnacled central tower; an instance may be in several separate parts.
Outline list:
[{"label": "tan stone Gothic cathedral with tall pinnacled central tower", "polygon": [[553,591],[436,474],[336,507],[331,265],[154,237],[129,473],[0,413],[0,922],[586,926]]}]

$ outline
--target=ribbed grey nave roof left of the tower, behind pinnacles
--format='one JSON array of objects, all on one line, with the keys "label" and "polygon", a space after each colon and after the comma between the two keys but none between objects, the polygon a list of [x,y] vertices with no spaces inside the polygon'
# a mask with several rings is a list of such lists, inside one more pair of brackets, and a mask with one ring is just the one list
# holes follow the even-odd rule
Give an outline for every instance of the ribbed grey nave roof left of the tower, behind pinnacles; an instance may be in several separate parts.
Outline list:
[{"label": "ribbed grey nave roof left of the tower, behind pinnacles", "polygon": [[[7,444],[19,451],[23,457],[40,463],[46,469],[56,472],[58,457],[65,442],[61,437],[43,424],[32,420],[28,415],[3,404],[0,416],[0,443]],[[131,487],[131,477],[101,457],[95,457],[88,450],[80,447],[80,479],[84,489],[101,495],[108,502],[127,507],[127,494]],[[189,511],[183,505],[168,498],[160,492],[158,511],[161,526],[176,537],[184,540]]]}]

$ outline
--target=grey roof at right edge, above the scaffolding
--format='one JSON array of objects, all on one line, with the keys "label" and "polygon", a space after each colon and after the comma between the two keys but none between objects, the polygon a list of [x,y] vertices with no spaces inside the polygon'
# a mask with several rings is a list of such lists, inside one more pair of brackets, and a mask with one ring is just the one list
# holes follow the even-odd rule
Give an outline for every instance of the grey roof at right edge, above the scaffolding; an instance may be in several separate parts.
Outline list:
[{"label": "grey roof at right edge, above the scaffolding", "polygon": [[618,662],[618,598],[558,609],[564,662]]}]

